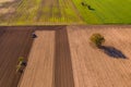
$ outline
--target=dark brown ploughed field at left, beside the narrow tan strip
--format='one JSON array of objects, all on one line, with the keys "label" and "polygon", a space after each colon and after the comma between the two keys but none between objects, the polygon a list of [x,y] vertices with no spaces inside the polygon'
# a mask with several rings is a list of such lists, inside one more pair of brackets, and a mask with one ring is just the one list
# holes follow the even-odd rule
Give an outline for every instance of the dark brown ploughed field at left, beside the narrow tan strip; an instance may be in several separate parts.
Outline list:
[{"label": "dark brown ploughed field at left, beside the narrow tan strip", "polygon": [[19,57],[27,58],[32,47],[33,29],[0,27],[0,87],[16,87],[21,74],[16,74]]}]

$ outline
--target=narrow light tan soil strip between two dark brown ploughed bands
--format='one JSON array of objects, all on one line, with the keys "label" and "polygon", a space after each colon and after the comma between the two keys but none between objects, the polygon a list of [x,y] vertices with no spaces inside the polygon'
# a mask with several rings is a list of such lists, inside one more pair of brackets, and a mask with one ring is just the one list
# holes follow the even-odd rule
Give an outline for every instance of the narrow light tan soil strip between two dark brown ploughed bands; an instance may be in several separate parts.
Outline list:
[{"label": "narrow light tan soil strip between two dark brown ploughed bands", "polygon": [[53,71],[55,32],[36,30],[27,67],[20,87],[51,87]]}]

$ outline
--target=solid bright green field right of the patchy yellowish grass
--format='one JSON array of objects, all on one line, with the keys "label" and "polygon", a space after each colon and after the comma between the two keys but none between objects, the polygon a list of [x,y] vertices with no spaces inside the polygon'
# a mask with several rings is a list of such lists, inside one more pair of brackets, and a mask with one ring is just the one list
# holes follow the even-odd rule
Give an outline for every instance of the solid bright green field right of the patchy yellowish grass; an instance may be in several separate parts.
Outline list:
[{"label": "solid bright green field right of the patchy yellowish grass", "polygon": [[[130,24],[131,0],[73,0],[87,24]],[[90,4],[94,11],[81,5]]]}]

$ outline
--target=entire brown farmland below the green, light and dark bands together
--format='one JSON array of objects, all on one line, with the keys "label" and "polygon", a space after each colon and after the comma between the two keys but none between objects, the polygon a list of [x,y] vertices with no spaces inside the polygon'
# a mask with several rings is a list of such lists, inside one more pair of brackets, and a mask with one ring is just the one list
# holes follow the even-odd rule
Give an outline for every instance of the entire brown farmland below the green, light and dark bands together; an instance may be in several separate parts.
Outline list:
[{"label": "entire brown farmland below the green, light and dark bands together", "polygon": [[[130,87],[130,32],[118,25],[0,27],[0,87]],[[90,44],[93,33],[105,36],[103,49]],[[20,55],[28,58],[22,76],[15,73]]]}]

